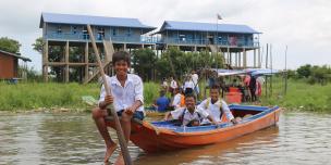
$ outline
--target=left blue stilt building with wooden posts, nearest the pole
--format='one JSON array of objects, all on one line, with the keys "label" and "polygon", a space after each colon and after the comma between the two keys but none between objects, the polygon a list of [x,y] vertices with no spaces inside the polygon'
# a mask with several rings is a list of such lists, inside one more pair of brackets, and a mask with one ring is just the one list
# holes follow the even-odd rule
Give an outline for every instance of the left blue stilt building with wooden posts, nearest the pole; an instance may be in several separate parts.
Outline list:
[{"label": "left blue stilt building with wooden posts, nearest the pole", "polygon": [[[145,34],[156,27],[144,25],[137,18],[42,13],[39,27],[42,28],[42,75],[46,81],[49,67],[58,67],[63,81],[69,81],[71,73],[78,72],[79,81],[88,81],[97,75],[87,24],[91,25],[106,64],[111,61],[108,52],[155,46]],[[50,60],[49,52],[54,48],[63,51]],[[73,48],[84,51],[73,54],[76,53]]]}]

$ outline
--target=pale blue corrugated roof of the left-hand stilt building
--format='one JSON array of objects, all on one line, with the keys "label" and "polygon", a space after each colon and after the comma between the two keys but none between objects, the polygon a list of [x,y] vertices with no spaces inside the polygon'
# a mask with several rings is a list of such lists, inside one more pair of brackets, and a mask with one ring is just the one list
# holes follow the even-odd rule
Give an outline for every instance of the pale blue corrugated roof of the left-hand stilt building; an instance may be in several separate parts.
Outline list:
[{"label": "pale blue corrugated roof of the left-hand stilt building", "polygon": [[99,25],[99,26],[117,26],[117,27],[137,27],[155,29],[156,27],[144,25],[137,18],[127,17],[106,17],[106,16],[90,16],[90,15],[73,15],[73,14],[57,14],[57,13],[41,13],[40,25],[42,23],[60,23],[60,24],[77,24],[77,25]]}]

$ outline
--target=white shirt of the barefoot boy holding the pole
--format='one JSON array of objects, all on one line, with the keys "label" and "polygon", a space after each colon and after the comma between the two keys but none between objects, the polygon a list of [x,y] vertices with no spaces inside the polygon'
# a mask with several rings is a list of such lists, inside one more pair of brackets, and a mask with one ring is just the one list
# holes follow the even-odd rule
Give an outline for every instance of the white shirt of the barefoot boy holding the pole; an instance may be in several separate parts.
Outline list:
[{"label": "white shirt of the barefoot boy holding the pole", "polygon": [[[127,74],[124,87],[121,86],[120,80],[117,76],[107,76],[108,86],[111,89],[111,94],[114,98],[113,105],[117,112],[124,110],[134,104],[135,101],[139,100],[144,104],[143,96],[143,80],[139,76],[134,74]],[[102,85],[100,91],[99,103],[105,100],[106,89]],[[144,112],[144,106],[139,106],[136,111]]]}]

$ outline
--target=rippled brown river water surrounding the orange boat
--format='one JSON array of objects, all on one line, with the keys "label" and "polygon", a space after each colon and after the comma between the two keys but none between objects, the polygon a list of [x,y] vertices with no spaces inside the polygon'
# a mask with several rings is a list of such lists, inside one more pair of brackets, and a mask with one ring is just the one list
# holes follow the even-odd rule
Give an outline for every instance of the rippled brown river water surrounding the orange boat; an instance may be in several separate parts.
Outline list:
[{"label": "rippled brown river water surrounding the orange boat", "polygon": [[[277,126],[223,143],[156,154],[130,143],[128,150],[136,165],[331,164],[330,118],[285,112]],[[0,135],[0,160],[5,164],[101,164],[105,154],[88,114],[2,115]]]}]

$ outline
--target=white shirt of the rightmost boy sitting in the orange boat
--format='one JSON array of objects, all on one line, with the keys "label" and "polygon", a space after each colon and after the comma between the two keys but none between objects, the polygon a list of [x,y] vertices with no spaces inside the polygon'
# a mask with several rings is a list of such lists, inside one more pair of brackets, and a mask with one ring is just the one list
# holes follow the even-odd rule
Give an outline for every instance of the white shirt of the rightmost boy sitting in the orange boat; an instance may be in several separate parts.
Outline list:
[{"label": "white shirt of the rightmost boy sitting in the orange boat", "polygon": [[[226,116],[226,118],[229,120],[233,119],[233,115],[226,104],[225,101],[223,101],[222,99],[219,99],[217,102],[211,103],[211,99],[207,98],[206,100],[204,100],[198,106],[197,109],[200,111],[206,111],[207,113],[209,113],[211,115],[211,117],[213,117],[213,119],[216,122],[221,122],[221,111],[220,111],[220,106],[222,106],[222,113],[223,115]],[[204,120],[203,124],[206,123],[210,123],[209,120]]]}]

